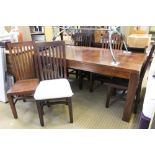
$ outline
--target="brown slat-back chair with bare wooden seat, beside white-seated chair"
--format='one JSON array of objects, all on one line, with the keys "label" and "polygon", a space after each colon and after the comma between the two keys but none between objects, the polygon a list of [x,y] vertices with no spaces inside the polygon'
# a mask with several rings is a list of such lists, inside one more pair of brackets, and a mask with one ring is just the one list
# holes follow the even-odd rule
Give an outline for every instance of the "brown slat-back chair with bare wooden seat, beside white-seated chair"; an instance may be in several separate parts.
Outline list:
[{"label": "brown slat-back chair with bare wooden seat, beside white-seated chair", "polygon": [[26,101],[32,97],[39,83],[34,60],[34,42],[8,43],[14,85],[7,91],[8,101],[14,118],[18,118],[15,104],[18,100]]}]

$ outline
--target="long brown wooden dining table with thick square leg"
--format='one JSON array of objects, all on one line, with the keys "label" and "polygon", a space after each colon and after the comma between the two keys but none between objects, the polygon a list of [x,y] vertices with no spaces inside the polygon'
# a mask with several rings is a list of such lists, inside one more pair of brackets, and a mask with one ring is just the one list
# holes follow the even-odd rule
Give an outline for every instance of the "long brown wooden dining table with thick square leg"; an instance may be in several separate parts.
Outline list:
[{"label": "long brown wooden dining table with thick square leg", "polygon": [[114,50],[114,52],[119,62],[118,65],[112,64],[109,49],[66,46],[67,67],[129,79],[127,100],[122,117],[124,121],[128,122],[132,113],[131,107],[140,71],[147,55],[144,53],[125,53],[123,50]]}]

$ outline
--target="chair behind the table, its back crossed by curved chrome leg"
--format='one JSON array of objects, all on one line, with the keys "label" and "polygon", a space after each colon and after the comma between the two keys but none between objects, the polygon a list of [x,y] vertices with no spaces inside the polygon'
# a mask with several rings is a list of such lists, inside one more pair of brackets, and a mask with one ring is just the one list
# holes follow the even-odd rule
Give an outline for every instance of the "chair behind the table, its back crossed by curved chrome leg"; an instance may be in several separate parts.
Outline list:
[{"label": "chair behind the table, its back crossed by curved chrome leg", "polygon": [[[123,38],[118,34],[113,34],[111,36],[112,49],[122,50],[123,48]],[[109,34],[108,32],[102,36],[102,48],[109,49]],[[110,52],[110,51],[109,51]],[[101,83],[107,82],[111,77],[100,75],[100,74],[91,74],[90,76],[90,92],[94,91],[94,82],[101,81]]]}]

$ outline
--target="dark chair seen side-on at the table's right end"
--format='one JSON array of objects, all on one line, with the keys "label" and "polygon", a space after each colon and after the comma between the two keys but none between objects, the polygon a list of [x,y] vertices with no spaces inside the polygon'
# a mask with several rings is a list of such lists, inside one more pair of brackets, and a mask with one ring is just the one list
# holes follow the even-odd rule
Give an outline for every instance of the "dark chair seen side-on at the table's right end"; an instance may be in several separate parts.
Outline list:
[{"label": "dark chair seen side-on at the table's right end", "polygon": [[[146,59],[145,63],[143,64],[141,72],[140,72],[139,82],[138,82],[136,95],[135,95],[134,113],[137,113],[138,104],[140,102],[140,93],[141,93],[143,78],[145,76],[148,65],[151,61],[154,50],[155,50],[155,44],[152,46],[152,48],[149,52],[149,55],[147,56],[147,59]],[[104,83],[105,85],[108,86],[106,108],[109,107],[110,98],[112,96],[113,89],[117,88],[117,89],[124,90],[123,92],[125,92],[128,89],[128,83],[129,83],[129,81],[127,79],[122,79],[122,78],[112,78],[109,82]]]}]

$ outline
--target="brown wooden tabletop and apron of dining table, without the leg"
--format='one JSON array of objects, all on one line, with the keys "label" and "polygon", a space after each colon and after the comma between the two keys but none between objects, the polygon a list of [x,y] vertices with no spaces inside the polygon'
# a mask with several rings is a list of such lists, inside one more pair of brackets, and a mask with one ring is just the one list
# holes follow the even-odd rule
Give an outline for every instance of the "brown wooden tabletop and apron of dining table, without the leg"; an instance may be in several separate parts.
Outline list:
[{"label": "brown wooden tabletop and apron of dining table, without the leg", "polygon": [[143,53],[125,53],[123,50],[114,50],[114,52],[118,65],[112,64],[109,49],[66,46],[67,66],[128,79],[131,74],[129,71],[139,73],[147,57]]}]

